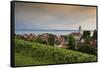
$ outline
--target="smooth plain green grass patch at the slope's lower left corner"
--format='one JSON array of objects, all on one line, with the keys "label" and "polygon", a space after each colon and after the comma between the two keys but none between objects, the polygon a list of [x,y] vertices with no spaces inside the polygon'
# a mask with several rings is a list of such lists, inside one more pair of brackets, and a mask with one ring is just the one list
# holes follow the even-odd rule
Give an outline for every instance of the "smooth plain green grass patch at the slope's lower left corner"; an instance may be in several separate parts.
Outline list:
[{"label": "smooth plain green grass patch at the slope's lower left corner", "polygon": [[40,64],[54,64],[52,60],[45,60],[43,58],[24,56],[20,53],[16,53],[15,56],[15,65],[40,65]]}]

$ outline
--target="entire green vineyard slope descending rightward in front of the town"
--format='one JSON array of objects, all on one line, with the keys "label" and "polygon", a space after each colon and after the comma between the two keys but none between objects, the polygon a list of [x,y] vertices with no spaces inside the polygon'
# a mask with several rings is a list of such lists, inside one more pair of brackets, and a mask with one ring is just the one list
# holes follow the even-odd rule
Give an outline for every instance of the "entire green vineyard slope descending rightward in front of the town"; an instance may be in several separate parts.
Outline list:
[{"label": "entire green vineyard slope descending rightward in front of the town", "polygon": [[16,66],[96,61],[96,56],[16,39]]}]

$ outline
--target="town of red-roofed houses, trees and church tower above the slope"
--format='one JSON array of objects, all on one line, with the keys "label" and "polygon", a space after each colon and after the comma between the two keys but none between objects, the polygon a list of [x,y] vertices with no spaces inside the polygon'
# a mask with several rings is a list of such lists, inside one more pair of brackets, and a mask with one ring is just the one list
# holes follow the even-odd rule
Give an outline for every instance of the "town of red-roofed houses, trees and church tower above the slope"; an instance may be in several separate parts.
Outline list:
[{"label": "town of red-roofed houses, trees and church tower above the slope", "polygon": [[21,38],[27,41],[35,41],[51,45],[54,47],[60,47],[65,49],[77,50],[81,45],[89,44],[90,46],[97,47],[97,31],[94,30],[92,35],[89,30],[82,30],[79,26],[79,32],[72,32],[69,35],[54,35],[49,33],[43,33],[41,35],[24,34],[16,35],[17,38]]}]

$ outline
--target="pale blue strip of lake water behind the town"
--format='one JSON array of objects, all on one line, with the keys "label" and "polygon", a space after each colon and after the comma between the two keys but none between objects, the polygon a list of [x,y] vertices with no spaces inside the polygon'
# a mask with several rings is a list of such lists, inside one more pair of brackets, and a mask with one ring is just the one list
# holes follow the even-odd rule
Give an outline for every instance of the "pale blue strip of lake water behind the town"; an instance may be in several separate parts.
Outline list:
[{"label": "pale blue strip of lake water behind the town", "polygon": [[15,31],[16,34],[43,34],[43,33],[51,33],[55,35],[68,35],[72,32],[79,32],[79,30],[20,30]]}]

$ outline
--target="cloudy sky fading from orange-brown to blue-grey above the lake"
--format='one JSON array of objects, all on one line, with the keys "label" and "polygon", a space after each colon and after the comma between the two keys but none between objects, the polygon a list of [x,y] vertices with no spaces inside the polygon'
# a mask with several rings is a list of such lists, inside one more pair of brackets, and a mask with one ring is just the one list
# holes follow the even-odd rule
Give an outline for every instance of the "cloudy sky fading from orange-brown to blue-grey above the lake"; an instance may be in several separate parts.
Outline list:
[{"label": "cloudy sky fading from orange-brown to blue-grey above the lake", "polygon": [[96,7],[15,3],[15,30],[96,29]]}]

